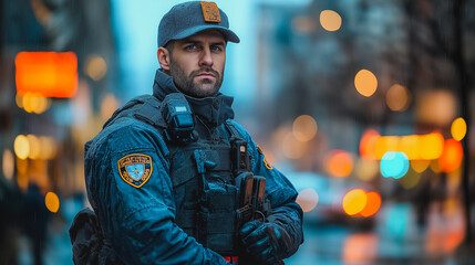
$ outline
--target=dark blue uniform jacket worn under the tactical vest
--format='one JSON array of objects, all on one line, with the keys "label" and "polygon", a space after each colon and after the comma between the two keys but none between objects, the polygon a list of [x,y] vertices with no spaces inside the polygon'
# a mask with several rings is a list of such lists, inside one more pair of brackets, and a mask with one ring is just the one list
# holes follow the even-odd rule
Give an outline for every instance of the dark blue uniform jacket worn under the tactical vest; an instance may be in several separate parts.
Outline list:
[{"label": "dark blue uniform jacket worn under the tactical vest", "polygon": [[[163,99],[178,92],[171,76],[157,71],[154,96]],[[223,126],[234,117],[233,99],[223,94],[203,99],[187,97],[198,117],[209,126]],[[303,241],[302,211],[297,191],[287,178],[265,161],[249,134],[233,121],[249,144],[252,171],[267,180],[271,222],[293,239],[283,256],[293,254]],[[176,225],[175,201],[169,178],[168,148],[158,130],[135,118],[121,118],[85,145],[87,197],[106,240],[126,264],[226,264],[217,253],[200,245]],[[140,188],[127,183],[118,161],[126,156],[148,156],[149,176]],[[271,168],[271,169],[269,169]]]}]

